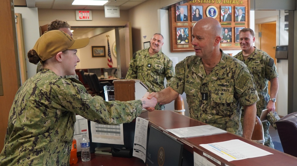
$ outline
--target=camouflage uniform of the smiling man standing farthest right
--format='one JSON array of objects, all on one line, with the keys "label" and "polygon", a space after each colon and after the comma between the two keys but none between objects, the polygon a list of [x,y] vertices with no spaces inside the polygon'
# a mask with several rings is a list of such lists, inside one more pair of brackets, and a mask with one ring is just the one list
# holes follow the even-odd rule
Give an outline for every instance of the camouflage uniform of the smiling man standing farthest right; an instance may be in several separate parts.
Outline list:
[{"label": "camouflage uniform of the smiling man standing farthest right", "polygon": [[[234,57],[244,62],[254,76],[258,96],[260,99],[256,105],[257,116],[260,118],[262,110],[266,108],[267,103],[270,99],[270,96],[268,94],[268,81],[278,77],[274,59],[271,58],[266,52],[259,50],[256,47],[255,51],[249,55],[247,60],[244,60],[242,51],[236,54]],[[243,119],[243,114],[241,115],[241,118]],[[269,122],[262,123],[265,139],[264,145],[274,148],[272,139],[268,132],[269,125]]]}]

